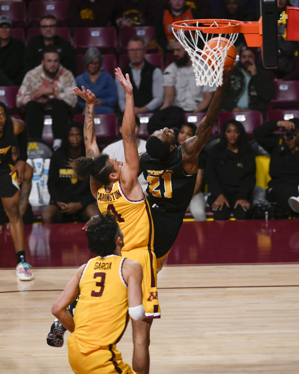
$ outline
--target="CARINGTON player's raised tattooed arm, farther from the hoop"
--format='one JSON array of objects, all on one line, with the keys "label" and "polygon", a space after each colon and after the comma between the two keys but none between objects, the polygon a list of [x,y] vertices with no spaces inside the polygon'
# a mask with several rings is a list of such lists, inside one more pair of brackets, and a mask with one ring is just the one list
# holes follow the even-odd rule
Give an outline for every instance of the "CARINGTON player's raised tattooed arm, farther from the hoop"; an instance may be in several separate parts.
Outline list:
[{"label": "CARINGTON player's raised tattooed arm, farther from the hoop", "polygon": [[84,86],[82,86],[82,91],[78,87],[73,88],[73,91],[86,101],[83,130],[84,144],[86,157],[94,159],[100,155],[98,144],[96,144],[95,120],[93,118],[95,95],[90,90],[85,90]]}]

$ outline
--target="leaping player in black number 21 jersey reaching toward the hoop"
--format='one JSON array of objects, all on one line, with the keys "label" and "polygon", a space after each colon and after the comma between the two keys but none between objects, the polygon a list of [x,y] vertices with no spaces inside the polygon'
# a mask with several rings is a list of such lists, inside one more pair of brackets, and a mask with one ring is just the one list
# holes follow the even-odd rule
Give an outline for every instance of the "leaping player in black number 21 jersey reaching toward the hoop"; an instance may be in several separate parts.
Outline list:
[{"label": "leaping player in black number 21 jersey reaching toward the hoop", "polygon": [[232,68],[223,74],[206,116],[194,137],[176,147],[173,129],[155,131],[147,140],[140,168],[148,181],[148,202],[154,222],[154,252],[161,270],[178,236],[185,211],[192,199],[198,170],[198,155],[209,139],[221,109],[222,96]]}]

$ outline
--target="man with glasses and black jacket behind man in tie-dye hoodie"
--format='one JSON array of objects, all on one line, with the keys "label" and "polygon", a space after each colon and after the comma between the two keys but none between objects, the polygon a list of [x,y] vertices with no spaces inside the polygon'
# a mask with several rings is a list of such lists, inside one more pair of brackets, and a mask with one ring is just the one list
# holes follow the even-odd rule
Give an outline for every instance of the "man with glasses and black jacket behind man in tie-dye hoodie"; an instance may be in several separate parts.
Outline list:
[{"label": "man with glasses and black jacket behind man in tie-dye hoodie", "polygon": [[40,35],[32,37],[27,44],[25,51],[25,73],[40,65],[44,49],[47,46],[53,46],[60,55],[61,65],[70,70],[75,76],[74,49],[68,40],[57,35],[57,19],[55,16],[47,14],[41,17],[40,33]]}]

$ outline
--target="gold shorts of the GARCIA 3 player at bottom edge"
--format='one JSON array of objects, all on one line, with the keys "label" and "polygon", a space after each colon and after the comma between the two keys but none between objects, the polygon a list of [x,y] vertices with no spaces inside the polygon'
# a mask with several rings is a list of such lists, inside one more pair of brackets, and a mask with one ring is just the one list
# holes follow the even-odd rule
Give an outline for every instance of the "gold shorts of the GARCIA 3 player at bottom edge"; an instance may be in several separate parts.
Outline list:
[{"label": "gold shorts of the GARCIA 3 player at bottom edge", "polygon": [[68,361],[75,374],[137,374],[122,361],[115,344],[93,349],[74,334],[68,338]]}]

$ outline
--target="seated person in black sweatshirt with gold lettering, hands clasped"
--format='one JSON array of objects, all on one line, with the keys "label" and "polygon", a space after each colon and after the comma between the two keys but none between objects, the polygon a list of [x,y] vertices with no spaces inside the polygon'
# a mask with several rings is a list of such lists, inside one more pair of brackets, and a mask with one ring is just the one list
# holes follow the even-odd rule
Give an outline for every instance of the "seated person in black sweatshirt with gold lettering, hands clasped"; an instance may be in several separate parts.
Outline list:
[{"label": "seated person in black sweatshirt with gold lettering, hands clasped", "polygon": [[99,214],[89,180],[73,178],[73,169],[68,166],[70,158],[78,157],[85,157],[83,124],[71,122],[65,129],[61,147],[51,156],[48,179],[51,200],[50,205],[43,208],[43,223],[87,222]]}]

